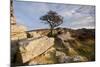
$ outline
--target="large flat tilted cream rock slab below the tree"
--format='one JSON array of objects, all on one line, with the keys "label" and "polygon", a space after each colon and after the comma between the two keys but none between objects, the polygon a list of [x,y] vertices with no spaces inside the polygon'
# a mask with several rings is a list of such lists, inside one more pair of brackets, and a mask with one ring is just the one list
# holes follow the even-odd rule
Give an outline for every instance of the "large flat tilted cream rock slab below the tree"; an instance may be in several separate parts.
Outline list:
[{"label": "large flat tilted cream rock slab below the tree", "polygon": [[20,41],[19,49],[21,52],[23,63],[25,63],[52,47],[54,45],[54,38],[48,38],[44,36],[39,39],[29,41],[28,43],[26,43],[27,45],[23,42],[25,41]]}]

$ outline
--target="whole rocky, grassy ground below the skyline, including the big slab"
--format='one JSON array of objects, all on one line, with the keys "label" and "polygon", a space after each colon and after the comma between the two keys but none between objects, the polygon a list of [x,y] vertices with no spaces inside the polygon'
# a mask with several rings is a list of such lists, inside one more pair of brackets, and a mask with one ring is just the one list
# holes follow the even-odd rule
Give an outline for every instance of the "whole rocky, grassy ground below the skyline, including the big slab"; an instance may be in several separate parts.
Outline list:
[{"label": "whole rocky, grassy ground below the skyline, including the big slab", "polygon": [[[45,34],[44,34],[45,33]],[[94,29],[63,29],[54,31],[54,37],[48,37],[49,31],[24,32],[19,39],[11,40],[12,65],[37,65],[86,62],[95,60]]]}]

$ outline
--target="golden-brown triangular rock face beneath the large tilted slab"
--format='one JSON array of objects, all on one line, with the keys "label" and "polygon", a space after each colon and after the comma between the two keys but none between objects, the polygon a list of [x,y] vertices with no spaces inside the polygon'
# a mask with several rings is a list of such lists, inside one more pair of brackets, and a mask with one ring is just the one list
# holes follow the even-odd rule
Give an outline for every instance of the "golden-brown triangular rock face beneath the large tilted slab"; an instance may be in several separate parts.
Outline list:
[{"label": "golden-brown triangular rock face beneath the large tilted slab", "polygon": [[29,65],[36,65],[36,64],[54,64],[57,63],[55,57],[55,48],[51,47],[46,52],[41,54],[40,56],[35,57],[35,59],[29,62]]}]

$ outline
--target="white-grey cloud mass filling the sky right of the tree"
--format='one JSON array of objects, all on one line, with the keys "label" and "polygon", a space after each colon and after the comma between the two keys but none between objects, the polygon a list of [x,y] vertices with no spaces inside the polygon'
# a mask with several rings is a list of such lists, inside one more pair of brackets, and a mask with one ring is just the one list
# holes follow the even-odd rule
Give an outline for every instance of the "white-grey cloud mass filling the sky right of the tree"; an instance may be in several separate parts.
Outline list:
[{"label": "white-grey cloud mass filling the sky right of the tree", "polygon": [[65,25],[68,28],[94,28],[95,27],[95,7],[78,6],[70,10],[64,9],[61,12],[64,16]]}]

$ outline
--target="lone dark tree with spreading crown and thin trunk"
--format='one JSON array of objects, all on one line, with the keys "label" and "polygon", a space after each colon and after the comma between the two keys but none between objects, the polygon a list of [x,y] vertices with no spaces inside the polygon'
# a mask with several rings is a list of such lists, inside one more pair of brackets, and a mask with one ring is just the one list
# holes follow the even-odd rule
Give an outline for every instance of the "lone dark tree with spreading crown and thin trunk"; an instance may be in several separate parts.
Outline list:
[{"label": "lone dark tree with spreading crown and thin trunk", "polygon": [[45,24],[49,24],[51,30],[50,36],[53,35],[53,29],[63,23],[63,17],[54,11],[49,11],[44,16],[40,17],[40,20],[44,21]]}]

